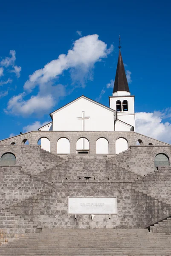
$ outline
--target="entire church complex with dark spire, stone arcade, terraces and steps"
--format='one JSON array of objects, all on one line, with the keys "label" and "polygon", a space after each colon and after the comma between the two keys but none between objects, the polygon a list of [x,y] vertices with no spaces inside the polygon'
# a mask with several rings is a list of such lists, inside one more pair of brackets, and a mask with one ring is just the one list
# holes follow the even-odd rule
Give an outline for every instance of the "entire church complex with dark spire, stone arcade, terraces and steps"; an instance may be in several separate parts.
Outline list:
[{"label": "entire church complex with dark spire, stone arcade, terraces and steps", "polygon": [[0,141],[0,255],[170,256],[171,145],[136,133],[121,49],[109,107],[50,116]]}]

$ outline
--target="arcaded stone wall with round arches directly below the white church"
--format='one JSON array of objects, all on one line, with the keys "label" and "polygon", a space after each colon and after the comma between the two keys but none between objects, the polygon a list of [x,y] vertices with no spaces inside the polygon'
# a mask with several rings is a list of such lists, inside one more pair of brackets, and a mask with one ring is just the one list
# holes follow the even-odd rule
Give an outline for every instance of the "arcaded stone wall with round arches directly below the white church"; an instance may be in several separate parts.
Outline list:
[{"label": "arcaded stone wall with round arches directly below the white church", "polygon": [[70,141],[70,153],[76,153],[76,142],[80,137],[85,137],[90,143],[90,154],[96,154],[96,141],[104,137],[109,142],[109,154],[115,154],[115,143],[118,138],[125,138],[128,141],[128,147],[130,145],[136,145],[137,140],[142,140],[141,145],[148,145],[152,143],[153,145],[169,145],[167,143],[162,143],[158,140],[151,139],[142,134],[136,132],[91,132],[91,131],[32,131],[25,134],[20,134],[18,136],[1,140],[0,145],[10,145],[11,143],[16,143],[15,145],[24,145],[24,141],[28,140],[29,145],[37,145],[38,140],[42,137],[46,137],[50,140],[51,152],[57,152],[57,141],[61,137],[66,137]]}]

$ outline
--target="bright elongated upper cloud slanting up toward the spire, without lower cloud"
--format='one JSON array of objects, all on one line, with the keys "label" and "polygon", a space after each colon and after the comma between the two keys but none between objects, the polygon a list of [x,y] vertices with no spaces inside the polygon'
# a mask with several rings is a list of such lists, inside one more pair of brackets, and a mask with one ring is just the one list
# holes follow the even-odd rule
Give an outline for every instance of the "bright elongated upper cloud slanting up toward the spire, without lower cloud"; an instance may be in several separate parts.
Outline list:
[{"label": "bright elongated upper cloud slanting up toward the spire, without lower cloud", "polygon": [[67,55],[61,54],[58,59],[50,61],[42,69],[36,70],[24,84],[24,90],[31,91],[36,85],[41,86],[64,70],[70,69],[73,82],[80,82],[84,87],[84,80],[89,79],[91,70],[97,61],[106,58],[113,50],[113,45],[107,49],[107,44],[99,40],[98,35],[87,35],[76,40]]}]

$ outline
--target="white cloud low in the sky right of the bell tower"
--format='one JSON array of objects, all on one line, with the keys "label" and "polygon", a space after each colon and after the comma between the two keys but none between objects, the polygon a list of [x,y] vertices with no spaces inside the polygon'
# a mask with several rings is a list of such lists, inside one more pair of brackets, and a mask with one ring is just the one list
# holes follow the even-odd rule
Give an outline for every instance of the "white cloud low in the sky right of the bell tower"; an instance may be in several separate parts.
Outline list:
[{"label": "white cloud low in the sky right of the bell tower", "polygon": [[165,118],[169,113],[154,111],[153,113],[136,113],[136,132],[157,140],[171,143],[171,123]]}]

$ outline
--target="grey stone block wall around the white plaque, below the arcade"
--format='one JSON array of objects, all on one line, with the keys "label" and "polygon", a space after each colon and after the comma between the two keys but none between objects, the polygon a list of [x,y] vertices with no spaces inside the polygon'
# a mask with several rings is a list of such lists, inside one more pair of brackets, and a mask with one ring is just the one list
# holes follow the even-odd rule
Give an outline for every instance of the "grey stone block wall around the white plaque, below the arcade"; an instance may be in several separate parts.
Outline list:
[{"label": "grey stone block wall around the white plaque, below the arcade", "polygon": [[[117,155],[58,155],[36,145],[0,145],[0,156],[5,152],[16,156],[16,166],[0,167],[0,227],[4,229],[10,221],[4,211],[28,225],[49,228],[145,228],[171,215],[170,183],[165,182],[167,177],[170,181],[170,167],[161,169],[161,178],[157,173],[144,181],[140,178],[147,170],[154,172],[157,153],[171,157],[170,146],[131,146]],[[161,197],[157,197],[158,187]],[[77,196],[116,197],[117,214],[96,215],[93,221],[90,215],[75,219],[68,214],[68,197]],[[11,229],[17,232],[17,225]],[[35,232],[32,227],[26,232]]]}]

